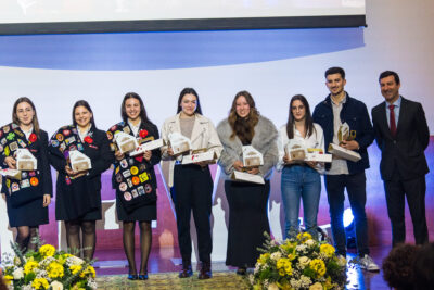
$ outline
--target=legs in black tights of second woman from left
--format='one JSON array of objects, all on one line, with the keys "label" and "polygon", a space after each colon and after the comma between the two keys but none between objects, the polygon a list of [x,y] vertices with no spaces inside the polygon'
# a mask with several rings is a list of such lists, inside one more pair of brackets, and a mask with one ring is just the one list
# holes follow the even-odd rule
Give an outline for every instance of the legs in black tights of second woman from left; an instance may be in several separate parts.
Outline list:
[{"label": "legs in black tights of second woman from left", "polygon": [[[95,220],[65,220],[65,227],[66,243],[71,252],[79,256],[82,247],[82,256],[89,261],[92,260],[97,244]],[[80,241],[80,229],[82,244]]]}]

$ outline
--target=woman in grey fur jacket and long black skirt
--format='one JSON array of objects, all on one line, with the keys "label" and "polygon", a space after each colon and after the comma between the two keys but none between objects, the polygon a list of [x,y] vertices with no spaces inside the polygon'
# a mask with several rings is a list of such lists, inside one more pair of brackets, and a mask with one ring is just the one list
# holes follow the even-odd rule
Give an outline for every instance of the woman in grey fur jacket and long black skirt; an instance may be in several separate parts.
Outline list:
[{"label": "woman in grey fur jacket and long black skirt", "polygon": [[[255,101],[247,91],[237,93],[229,117],[217,126],[224,144],[219,160],[228,180],[225,181],[229,203],[229,232],[226,264],[238,267],[237,274],[245,275],[259,257],[258,247],[265,241],[264,231],[270,232],[268,224],[268,197],[272,167],[278,161],[277,129],[266,117],[259,115]],[[245,167],[243,147],[252,146],[263,155],[263,165]],[[265,184],[229,180],[233,172],[243,172],[265,179]]]}]

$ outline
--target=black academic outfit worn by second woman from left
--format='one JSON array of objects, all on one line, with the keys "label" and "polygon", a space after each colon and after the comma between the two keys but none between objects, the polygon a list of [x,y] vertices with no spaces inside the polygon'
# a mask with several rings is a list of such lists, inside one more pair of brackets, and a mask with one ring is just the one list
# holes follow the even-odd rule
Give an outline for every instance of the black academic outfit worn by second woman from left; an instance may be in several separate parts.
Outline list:
[{"label": "black academic outfit worn by second woman from left", "polygon": [[[81,140],[75,126],[60,128],[50,140],[49,157],[59,172],[56,181],[55,219],[101,219],[101,174],[113,162],[108,139],[102,130],[90,128],[89,138]],[[91,160],[92,168],[85,176],[66,174],[69,151],[79,150]]]}]

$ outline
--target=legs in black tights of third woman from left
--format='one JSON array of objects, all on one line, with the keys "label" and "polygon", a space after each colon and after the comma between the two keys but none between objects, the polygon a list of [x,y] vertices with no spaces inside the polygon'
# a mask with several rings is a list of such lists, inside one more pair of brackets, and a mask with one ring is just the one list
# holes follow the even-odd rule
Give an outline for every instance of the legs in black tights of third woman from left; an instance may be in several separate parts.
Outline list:
[{"label": "legs in black tights of third woman from left", "polygon": [[[152,245],[151,222],[139,222],[140,226],[140,275],[148,274],[148,260]],[[124,222],[124,251],[128,259],[129,274],[137,274],[135,259],[135,228],[136,222]]]}]

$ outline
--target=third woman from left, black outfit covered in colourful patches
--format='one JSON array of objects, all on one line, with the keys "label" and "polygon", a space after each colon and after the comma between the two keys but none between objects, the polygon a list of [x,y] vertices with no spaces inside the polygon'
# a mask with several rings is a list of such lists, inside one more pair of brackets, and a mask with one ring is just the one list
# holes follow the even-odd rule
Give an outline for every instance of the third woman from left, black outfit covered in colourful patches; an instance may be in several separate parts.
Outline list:
[{"label": "third woman from left, black outfit covered in colourful patches", "polygon": [[[124,250],[128,259],[128,279],[148,279],[148,259],[151,252],[151,220],[156,219],[156,178],[154,165],[159,163],[161,151],[155,149],[143,154],[130,156],[120,153],[114,136],[126,133],[144,143],[159,138],[158,128],[148,118],[143,101],[136,92],[125,94],[120,116],[123,122],[112,126],[107,131],[115,154],[113,188],[116,189],[117,218],[123,222]],[[140,227],[141,263],[137,275],[135,260],[135,228]]]}]

